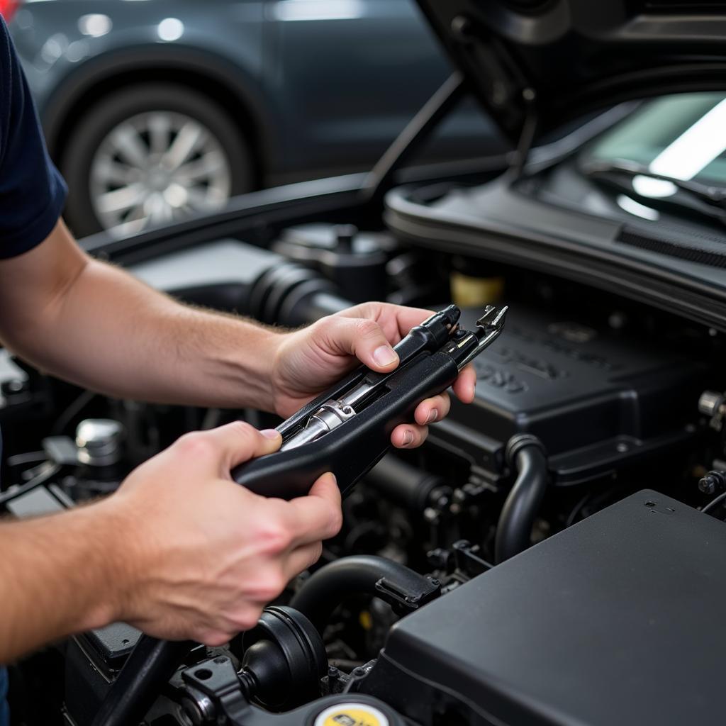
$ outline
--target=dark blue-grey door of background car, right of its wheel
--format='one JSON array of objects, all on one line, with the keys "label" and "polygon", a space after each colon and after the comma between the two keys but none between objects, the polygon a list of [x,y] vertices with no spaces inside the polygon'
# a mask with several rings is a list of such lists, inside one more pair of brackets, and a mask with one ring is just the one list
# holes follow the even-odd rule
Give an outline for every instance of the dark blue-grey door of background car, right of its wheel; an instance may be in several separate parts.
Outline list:
[{"label": "dark blue-grey door of background car, right of its wheel", "polygon": [[293,175],[370,166],[450,73],[413,0],[267,0],[266,19],[277,166]]}]

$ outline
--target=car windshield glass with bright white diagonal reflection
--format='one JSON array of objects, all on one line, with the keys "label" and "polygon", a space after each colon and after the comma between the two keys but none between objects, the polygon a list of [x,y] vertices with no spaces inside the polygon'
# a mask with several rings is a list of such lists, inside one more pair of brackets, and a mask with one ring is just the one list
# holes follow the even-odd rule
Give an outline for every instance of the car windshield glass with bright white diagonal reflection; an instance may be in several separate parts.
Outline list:
[{"label": "car windshield glass with bright white diagonal reflection", "polygon": [[725,94],[679,94],[646,102],[590,145],[582,160],[626,160],[657,176],[726,187]]}]

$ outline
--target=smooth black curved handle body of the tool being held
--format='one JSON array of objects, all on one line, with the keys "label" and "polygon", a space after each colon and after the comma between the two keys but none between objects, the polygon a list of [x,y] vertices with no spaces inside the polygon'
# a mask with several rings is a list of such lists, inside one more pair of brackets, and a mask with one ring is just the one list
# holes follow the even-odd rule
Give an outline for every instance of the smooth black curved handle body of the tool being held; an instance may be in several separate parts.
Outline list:
[{"label": "smooth black curved handle body of the tool being held", "polygon": [[332,471],[345,495],[391,447],[391,431],[412,420],[418,404],[451,386],[458,375],[451,356],[424,352],[386,382],[383,393],[317,441],[268,454],[234,468],[232,478],[255,494],[294,499]]}]

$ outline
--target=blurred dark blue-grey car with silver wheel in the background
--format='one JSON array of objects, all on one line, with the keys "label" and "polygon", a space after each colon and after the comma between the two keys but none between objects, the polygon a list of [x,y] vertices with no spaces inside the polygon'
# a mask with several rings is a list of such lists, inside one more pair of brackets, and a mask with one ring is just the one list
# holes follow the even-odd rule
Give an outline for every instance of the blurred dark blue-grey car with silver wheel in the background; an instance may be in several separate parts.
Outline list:
[{"label": "blurred dark blue-grey car with silver wheel in the background", "polygon": [[[77,235],[136,232],[251,189],[370,168],[450,72],[410,0],[0,9]],[[487,129],[481,113],[461,113],[432,155],[495,152]]]}]

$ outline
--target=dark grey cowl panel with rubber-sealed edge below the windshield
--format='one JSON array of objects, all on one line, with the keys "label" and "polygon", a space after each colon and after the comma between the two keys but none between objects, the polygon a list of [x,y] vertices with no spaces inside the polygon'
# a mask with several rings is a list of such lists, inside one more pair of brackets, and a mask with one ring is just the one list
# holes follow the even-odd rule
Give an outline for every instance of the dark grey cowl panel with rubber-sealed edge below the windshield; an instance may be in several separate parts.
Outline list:
[{"label": "dark grey cowl panel with rubber-sealed edge below the windshield", "polygon": [[389,192],[385,219],[417,246],[555,274],[726,331],[723,270],[629,245],[625,234],[648,235],[635,223],[533,200],[504,176],[434,203],[412,191]]}]

